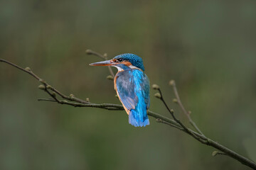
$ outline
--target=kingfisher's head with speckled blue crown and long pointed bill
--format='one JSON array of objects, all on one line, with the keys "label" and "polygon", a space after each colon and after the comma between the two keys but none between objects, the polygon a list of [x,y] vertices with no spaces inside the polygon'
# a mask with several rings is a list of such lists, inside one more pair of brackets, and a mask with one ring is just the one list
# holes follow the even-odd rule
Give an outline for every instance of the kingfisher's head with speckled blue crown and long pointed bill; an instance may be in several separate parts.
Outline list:
[{"label": "kingfisher's head with speckled blue crown and long pointed bill", "polygon": [[130,53],[117,55],[112,60],[95,62],[90,65],[91,66],[112,66],[112,67],[117,67],[117,69],[119,70],[123,70],[123,69],[142,69],[142,71],[145,70],[142,58]]}]

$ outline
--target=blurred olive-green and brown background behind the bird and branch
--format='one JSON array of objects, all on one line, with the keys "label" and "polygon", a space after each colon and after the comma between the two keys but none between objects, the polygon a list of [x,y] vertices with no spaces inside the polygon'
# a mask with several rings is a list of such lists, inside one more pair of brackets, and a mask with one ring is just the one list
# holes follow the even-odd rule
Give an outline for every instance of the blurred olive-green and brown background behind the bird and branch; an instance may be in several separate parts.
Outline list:
[{"label": "blurred olive-green and brown background behind the bird and branch", "polygon": [[[189,125],[170,79],[205,135],[256,161],[255,1],[11,0],[0,20],[1,58],[93,103],[119,100],[85,50],[139,55],[178,118]],[[249,169],[154,118],[134,128],[124,111],[38,102],[38,85],[0,63],[0,169]]]}]

